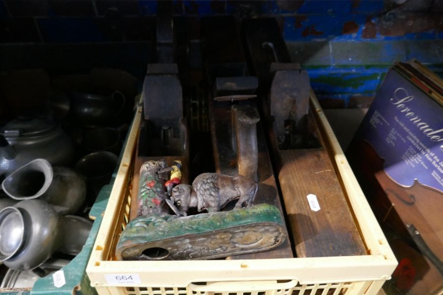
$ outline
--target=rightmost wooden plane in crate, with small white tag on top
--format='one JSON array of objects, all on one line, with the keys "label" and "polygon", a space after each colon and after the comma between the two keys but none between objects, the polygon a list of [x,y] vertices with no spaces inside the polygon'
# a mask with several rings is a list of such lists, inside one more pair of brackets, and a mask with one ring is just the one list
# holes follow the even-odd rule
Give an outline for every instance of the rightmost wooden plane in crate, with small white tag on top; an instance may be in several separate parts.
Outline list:
[{"label": "rightmost wooden plane in crate, with small white tag on top", "polygon": [[306,70],[291,63],[275,19],[245,19],[242,33],[297,257],[367,254],[316,120],[321,108]]}]

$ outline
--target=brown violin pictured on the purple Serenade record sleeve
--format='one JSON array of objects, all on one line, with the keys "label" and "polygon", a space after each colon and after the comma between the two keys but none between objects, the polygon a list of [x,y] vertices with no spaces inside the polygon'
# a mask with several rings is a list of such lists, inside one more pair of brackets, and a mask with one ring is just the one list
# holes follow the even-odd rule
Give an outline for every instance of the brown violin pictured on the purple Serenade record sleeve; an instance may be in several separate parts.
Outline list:
[{"label": "brown violin pictured on the purple Serenade record sleeve", "polygon": [[366,141],[352,142],[348,158],[379,221],[412,239],[443,274],[443,193],[417,179],[411,186],[394,181],[384,170],[385,160]]}]

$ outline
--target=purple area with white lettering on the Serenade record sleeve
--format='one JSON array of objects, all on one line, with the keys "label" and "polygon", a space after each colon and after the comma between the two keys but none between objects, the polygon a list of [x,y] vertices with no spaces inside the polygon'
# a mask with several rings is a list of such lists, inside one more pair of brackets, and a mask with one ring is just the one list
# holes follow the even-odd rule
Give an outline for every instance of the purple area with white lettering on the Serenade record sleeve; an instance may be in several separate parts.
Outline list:
[{"label": "purple area with white lettering on the Serenade record sleeve", "polygon": [[443,191],[443,108],[403,76],[389,70],[363,119],[357,139],[385,160],[395,182]]}]

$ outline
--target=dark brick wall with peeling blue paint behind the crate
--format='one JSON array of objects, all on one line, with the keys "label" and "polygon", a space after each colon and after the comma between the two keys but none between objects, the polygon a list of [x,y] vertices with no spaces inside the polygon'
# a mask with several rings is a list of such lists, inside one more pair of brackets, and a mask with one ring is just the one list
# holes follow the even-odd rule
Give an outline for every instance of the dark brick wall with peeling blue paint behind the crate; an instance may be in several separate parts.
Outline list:
[{"label": "dark brick wall with peeling blue paint behind the crate", "polygon": [[[143,75],[157,8],[148,0],[0,0],[0,70],[94,65]],[[443,73],[443,0],[175,0],[173,10],[192,20],[195,39],[202,16],[277,17],[325,107],[365,106],[395,61],[416,58]]]}]

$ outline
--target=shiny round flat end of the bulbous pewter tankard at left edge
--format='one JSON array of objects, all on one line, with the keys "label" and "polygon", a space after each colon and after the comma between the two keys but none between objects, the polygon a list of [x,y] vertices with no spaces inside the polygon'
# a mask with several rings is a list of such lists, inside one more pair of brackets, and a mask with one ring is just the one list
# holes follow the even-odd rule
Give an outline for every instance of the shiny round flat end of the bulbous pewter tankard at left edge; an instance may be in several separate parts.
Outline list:
[{"label": "shiny round flat end of the bulbous pewter tankard at left edge", "polygon": [[5,261],[20,249],[25,235],[23,215],[16,207],[0,211],[0,261]]}]

